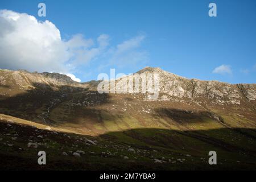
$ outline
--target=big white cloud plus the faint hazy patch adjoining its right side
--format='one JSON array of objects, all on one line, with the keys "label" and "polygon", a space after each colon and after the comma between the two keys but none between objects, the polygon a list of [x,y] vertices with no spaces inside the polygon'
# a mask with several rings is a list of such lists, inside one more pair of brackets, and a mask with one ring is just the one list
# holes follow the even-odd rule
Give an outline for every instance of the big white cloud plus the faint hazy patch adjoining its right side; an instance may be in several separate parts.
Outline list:
[{"label": "big white cloud plus the faint hazy patch adjoining its right side", "polygon": [[0,27],[0,68],[70,73],[108,46],[108,35],[97,46],[80,34],[65,41],[52,22],[10,10],[0,10]]}]

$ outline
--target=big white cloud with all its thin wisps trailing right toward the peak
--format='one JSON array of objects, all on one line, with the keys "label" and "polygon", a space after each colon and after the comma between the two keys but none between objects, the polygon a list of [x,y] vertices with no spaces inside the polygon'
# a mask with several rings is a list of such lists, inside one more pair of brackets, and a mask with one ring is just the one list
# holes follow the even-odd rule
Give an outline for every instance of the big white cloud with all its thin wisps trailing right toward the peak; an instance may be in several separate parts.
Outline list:
[{"label": "big white cloud with all its thin wisps trailing right toward the peak", "polygon": [[82,34],[61,39],[59,29],[48,20],[42,22],[26,13],[0,10],[0,68],[38,72],[81,73],[86,63],[101,58],[102,65],[135,65],[147,60],[141,51],[144,35],[110,46],[109,35],[96,41]]}]

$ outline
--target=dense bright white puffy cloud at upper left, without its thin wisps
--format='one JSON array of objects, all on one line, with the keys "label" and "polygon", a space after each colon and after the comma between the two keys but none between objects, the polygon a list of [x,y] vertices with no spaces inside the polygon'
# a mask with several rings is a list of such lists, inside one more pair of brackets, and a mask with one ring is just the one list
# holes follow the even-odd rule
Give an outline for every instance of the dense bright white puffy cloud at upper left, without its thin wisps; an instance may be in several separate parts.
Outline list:
[{"label": "dense bright white puffy cloud at upper left, without its thin wisps", "polygon": [[34,16],[9,10],[1,10],[0,19],[1,68],[64,70],[69,52],[54,24],[48,20],[38,22]]}]

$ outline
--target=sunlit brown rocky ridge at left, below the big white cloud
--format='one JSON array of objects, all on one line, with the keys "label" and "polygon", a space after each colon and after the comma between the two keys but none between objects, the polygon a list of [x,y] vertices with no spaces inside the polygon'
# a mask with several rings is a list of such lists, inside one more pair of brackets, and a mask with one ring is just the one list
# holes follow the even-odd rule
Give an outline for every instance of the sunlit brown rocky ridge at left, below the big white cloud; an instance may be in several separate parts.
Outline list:
[{"label": "sunlit brown rocky ridge at left, below the big white cloud", "polygon": [[86,88],[88,84],[73,81],[60,73],[30,73],[24,70],[0,69],[0,96],[13,96],[35,88],[62,89]]}]

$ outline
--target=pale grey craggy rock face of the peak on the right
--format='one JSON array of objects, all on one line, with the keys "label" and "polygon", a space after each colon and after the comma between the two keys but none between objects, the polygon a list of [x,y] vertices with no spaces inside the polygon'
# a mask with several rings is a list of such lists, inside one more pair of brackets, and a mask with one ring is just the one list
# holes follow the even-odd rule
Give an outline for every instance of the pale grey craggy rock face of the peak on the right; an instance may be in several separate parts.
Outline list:
[{"label": "pale grey craggy rock face of the peak on the right", "polygon": [[[146,67],[137,73],[159,75],[159,101],[171,101],[176,98],[189,98],[190,100],[204,98],[214,104],[222,105],[240,104],[242,100],[256,99],[256,84],[228,84],[219,81],[188,79],[160,68],[151,67]],[[131,76],[127,76],[127,80],[129,77]],[[117,82],[116,85],[125,84],[121,78]]]}]

